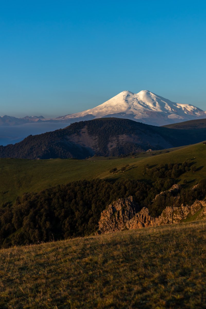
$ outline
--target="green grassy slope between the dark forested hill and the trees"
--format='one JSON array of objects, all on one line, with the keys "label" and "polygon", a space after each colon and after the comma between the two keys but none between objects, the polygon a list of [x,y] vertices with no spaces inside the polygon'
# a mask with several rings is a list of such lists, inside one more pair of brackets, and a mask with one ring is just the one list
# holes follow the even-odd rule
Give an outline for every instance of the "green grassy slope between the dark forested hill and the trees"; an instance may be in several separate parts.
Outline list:
[{"label": "green grassy slope between the dark forested hill and the trees", "polygon": [[[159,151],[160,152],[160,151]],[[168,153],[142,158],[118,158],[100,160],[26,160],[26,159],[0,159],[0,203],[14,201],[24,192],[39,192],[50,186],[66,184],[80,179],[93,178],[119,178],[146,179],[142,169],[146,164],[155,166],[164,163],[182,163],[189,159],[196,165],[197,171],[184,173],[178,183],[184,179],[193,185],[201,178],[206,177],[206,145],[203,143],[187,146]],[[122,172],[123,166],[129,165]],[[116,173],[109,170],[117,167]]]}]

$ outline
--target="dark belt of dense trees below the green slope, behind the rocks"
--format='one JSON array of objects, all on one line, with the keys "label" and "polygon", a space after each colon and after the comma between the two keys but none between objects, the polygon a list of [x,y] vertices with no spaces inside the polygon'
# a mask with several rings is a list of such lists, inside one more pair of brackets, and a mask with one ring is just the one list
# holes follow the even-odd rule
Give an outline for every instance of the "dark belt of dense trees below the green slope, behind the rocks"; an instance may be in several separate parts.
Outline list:
[{"label": "dark belt of dense trees below the green slope, behind the rocks", "polygon": [[[152,216],[160,215],[175,201],[191,204],[205,196],[206,180],[193,189],[183,185],[178,192],[166,191],[189,168],[188,162],[145,166],[142,172],[150,176],[148,181],[80,180],[40,193],[25,193],[14,205],[0,207],[0,246],[90,235],[97,230],[101,211],[112,201],[130,195],[139,209],[147,207]],[[157,196],[162,191],[165,193]]]}]

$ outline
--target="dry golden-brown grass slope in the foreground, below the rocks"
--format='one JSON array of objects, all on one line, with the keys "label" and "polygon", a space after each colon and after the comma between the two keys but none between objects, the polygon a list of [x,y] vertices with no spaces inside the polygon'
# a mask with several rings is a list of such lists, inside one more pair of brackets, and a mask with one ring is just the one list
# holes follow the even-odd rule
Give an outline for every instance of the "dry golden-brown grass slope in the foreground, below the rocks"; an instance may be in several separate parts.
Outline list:
[{"label": "dry golden-brown grass slope in the foreground, below the rocks", "polygon": [[0,250],[0,308],[205,308],[206,221]]}]

